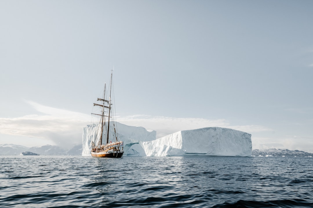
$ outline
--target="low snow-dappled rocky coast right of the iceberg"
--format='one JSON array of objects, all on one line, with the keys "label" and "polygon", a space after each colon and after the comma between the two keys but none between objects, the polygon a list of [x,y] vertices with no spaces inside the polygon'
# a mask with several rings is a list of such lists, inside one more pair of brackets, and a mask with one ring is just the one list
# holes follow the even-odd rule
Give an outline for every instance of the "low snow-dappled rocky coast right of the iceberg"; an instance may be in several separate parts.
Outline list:
[{"label": "low snow-dappled rocky coast right of the iceberg", "polygon": [[255,157],[313,157],[313,153],[289,149],[253,149]]}]

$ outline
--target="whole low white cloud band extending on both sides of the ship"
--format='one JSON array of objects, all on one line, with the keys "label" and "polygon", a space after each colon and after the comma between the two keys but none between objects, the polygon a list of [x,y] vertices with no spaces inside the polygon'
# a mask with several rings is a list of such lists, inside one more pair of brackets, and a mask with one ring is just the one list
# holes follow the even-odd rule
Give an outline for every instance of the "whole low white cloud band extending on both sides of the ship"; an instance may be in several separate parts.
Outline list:
[{"label": "whole low white cloud band extending on both sides of the ship", "polygon": [[[82,141],[83,128],[90,124],[90,115],[44,106],[33,101],[26,101],[39,114],[17,118],[0,118],[0,133],[43,138],[56,144],[72,144]],[[151,115],[117,116],[117,121],[130,126],[142,126],[155,130],[157,138],[180,130],[205,127],[233,128],[247,133],[271,131],[259,125],[231,125],[225,119],[173,118]]]}]

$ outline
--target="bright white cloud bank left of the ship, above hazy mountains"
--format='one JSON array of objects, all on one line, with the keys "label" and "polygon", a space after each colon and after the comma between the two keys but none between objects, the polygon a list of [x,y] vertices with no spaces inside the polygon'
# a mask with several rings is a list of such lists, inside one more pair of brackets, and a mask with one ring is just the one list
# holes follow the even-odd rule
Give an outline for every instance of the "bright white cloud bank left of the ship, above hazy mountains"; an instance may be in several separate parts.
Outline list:
[{"label": "bright white cloud bank left of the ship, above hazy mountains", "polygon": [[43,138],[65,145],[81,142],[82,128],[88,124],[89,115],[56,109],[32,101],[27,103],[42,115],[0,118],[0,133]]}]

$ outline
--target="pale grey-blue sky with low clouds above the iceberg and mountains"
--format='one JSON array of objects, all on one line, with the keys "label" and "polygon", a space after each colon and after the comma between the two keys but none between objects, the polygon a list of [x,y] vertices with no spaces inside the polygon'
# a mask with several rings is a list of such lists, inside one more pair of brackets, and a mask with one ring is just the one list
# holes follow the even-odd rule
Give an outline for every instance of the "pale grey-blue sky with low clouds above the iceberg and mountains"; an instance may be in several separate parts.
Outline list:
[{"label": "pale grey-blue sky with low clouds above the iceberg and mountains", "polygon": [[313,152],[313,1],[0,0],[0,144],[82,143],[113,69],[117,121]]}]

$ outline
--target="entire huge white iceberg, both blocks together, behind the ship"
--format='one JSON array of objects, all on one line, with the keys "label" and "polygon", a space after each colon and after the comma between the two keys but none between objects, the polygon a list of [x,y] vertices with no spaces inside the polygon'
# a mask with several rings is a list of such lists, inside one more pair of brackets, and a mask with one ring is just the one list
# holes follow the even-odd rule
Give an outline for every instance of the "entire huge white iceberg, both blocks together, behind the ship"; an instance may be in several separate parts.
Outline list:
[{"label": "entire huge white iceberg, both blocks together, behind the ship", "polygon": [[[184,130],[156,139],[156,131],[117,123],[124,156],[251,156],[251,134],[230,128],[208,127]],[[83,130],[82,155],[90,155],[91,141],[99,133],[98,125]],[[103,138],[104,141],[104,138]]]}]

